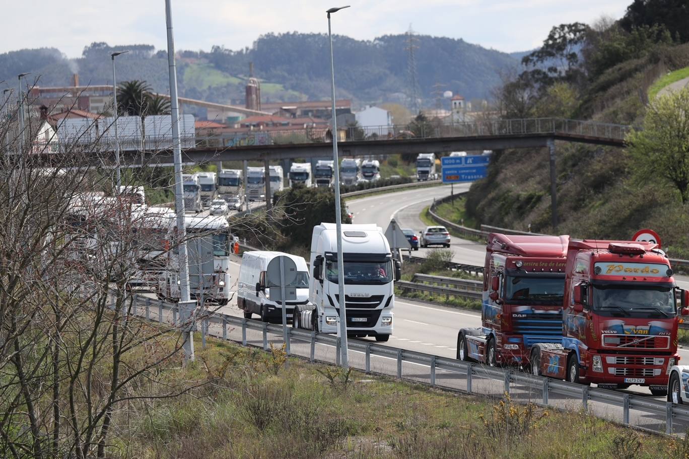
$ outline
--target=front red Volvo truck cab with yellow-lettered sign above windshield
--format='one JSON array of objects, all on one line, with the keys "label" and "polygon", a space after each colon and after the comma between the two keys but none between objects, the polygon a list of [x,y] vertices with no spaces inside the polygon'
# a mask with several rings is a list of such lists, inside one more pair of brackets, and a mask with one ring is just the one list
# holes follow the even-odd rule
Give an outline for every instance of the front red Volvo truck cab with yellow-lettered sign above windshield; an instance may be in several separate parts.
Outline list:
[{"label": "front red Volvo truck cab with yellow-lettered sign above windshield", "polygon": [[570,241],[562,341],[531,346],[531,371],[666,394],[670,368],[679,361],[676,290],[656,242]]}]

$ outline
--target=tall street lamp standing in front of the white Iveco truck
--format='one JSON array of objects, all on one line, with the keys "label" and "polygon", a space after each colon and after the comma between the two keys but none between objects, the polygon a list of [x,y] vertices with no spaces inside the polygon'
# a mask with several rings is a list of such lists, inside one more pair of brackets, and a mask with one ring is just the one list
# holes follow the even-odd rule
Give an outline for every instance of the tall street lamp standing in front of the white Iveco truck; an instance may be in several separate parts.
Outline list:
[{"label": "tall street lamp standing in front of the white Iveco truck", "polygon": [[333,98],[332,117],[333,117],[333,164],[335,165],[335,224],[337,231],[338,244],[338,290],[340,298],[338,299],[338,306],[340,307],[340,365],[343,368],[349,368],[349,359],[347,357],[347,310],[345,301],[345,260],[342,258],[342,209],[340,209],[340,161],[338,160],[338,121],[335,115],[335,63],[333,62],[333,35],[330,28],[330,14],[338,12],[347,6],[340,6],[339,8],[330,8],[328,13],[328,39],[330,40],[330,89]]}]

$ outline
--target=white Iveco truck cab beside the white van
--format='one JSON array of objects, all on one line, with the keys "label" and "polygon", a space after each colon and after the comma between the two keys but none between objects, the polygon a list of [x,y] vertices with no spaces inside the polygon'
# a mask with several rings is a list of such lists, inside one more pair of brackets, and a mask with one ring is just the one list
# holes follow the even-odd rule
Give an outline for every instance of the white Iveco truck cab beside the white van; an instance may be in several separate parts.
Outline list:
[{"label": "white Iveco truck cab beside the white van", "polygon": [[[400,263],[392,258],[382,228],[375,224],[343,224],[347,336],[388,341],[392,334],[395,279]],[[295,306],[294,328],[336,333],[340,315],[337,233],[332,223],[313,227],[309,301]]]}]

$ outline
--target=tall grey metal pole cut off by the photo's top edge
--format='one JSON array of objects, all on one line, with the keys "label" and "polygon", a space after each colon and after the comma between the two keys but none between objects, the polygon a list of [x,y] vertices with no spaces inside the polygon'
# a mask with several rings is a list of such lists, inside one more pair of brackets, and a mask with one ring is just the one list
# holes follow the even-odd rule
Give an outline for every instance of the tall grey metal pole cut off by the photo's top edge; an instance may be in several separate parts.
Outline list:
[{"label": "tall grey metal pole cut off by the photo's top edge", "polygon": [[[172,7],[165,0],[165,23],[167,24],[167,67],[170,85],[170,116],[172,116],[172,153],[174,156],[175,210],[177,212],[177,236],[179,252],[180,319],[183,324],[183,348],[185,362],[194,361],[194,311],[196,301],[189,295],[189,256],[187,254],[187,231],[184,217],[184,192],[182,189],[182,150],[179,138],[179,100],[177,99],[177,69],[174,62],[174,37],[172,34]],[[203,282],[202,282],[203,284]],[[203,290],[203,288],[202,288]]]}]

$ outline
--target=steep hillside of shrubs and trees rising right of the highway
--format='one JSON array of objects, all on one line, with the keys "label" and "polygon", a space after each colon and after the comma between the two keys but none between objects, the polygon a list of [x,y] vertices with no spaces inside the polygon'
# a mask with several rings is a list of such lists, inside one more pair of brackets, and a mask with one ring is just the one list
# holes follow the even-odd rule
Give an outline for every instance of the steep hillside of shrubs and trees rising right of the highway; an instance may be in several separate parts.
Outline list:
[{"label": "steep hillside of shrubs and trees rising right of the highway", "polygon": [[689,257],[689,204],[682,191],[689,174],[681,103],[687,95],[647,95],[657,78],[689,65],[689,44],[672,39],[679,35],[664,24],[631,26],[630,32],[624,20],[574,33],[571,26],[553,28],[542,54],[557,54],[562,43],[579,43],[582,53],[568,67],[515,78],[502,89],[503,107],[520,116],[590,118],[643,130],[628,138],[626,149],[557,142],[557,228],[551,226],[546,149],[497,151],[489,177],[471,186],[467,215],[477,225],[526,230],[531,224],[532,231],[573,237],[628,239],[639,228],[654,228],[670,256]]}]

